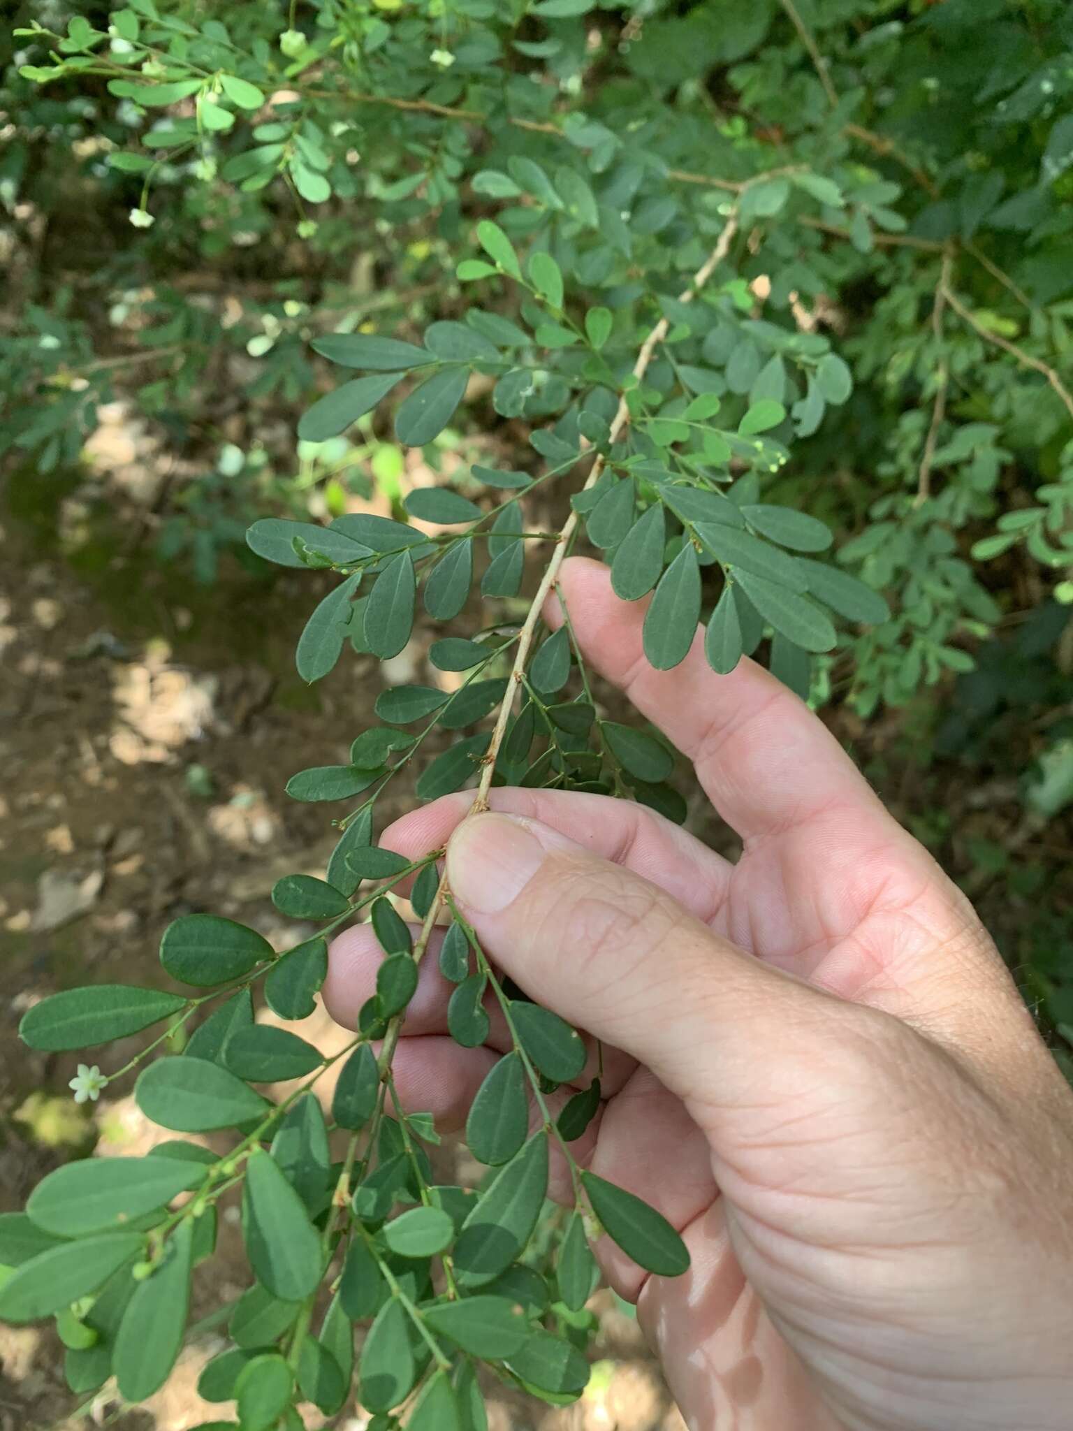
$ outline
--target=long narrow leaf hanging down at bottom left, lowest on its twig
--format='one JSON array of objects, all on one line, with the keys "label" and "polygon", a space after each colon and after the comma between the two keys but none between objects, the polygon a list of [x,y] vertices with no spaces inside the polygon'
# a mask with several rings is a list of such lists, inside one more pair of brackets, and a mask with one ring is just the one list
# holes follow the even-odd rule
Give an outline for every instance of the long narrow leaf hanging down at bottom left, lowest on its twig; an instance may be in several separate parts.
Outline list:
[{"label": "long narrow leaf hanging down at bottom left, lowest on its twig", "polygon": [[165,1244],[157,1268],[134,1288],[116,1335],[112,1368],[126,1401],[144,1401],[163,1387],[183,1345],[190,1305],[193,1222]]}]

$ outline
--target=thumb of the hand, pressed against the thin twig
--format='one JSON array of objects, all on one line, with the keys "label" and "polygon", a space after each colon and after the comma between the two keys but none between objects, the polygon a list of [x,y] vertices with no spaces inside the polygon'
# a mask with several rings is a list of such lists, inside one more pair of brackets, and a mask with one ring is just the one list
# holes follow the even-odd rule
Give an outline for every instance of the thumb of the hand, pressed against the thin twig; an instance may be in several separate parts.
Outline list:
[{"label": "thumb of the hand, pressed against the thin twig", "polygon": [[817,1025],[850,1007],[758,963],[658,886],[535,820],[472,816],[448,844],[446,873],[499,967],[647,1063],[712,1132],[720,1109],[793,1096]]}]

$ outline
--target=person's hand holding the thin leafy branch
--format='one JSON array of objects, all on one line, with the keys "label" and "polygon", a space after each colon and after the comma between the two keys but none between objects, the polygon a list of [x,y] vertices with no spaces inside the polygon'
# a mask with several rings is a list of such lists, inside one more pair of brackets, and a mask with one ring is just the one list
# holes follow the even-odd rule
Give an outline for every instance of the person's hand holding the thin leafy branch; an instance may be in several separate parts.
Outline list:
[{"label": "person's hand holding the thin leafy branch", "polygon": [[[604,567],[574,560],[561,588],[587,661],[692,760],[738,863],[640,806],[539,790],[494,790],[472,820],[449,796],[382,843],[449,840],[489,957],[604,1042],[605,1102],[574,1152],[690,1248],[677,1279],[598,1249],[687,1422],[1067,1428],[1073,1093],[991,940],[771,675],[712,674],[701,638],[655,671],[644,604]],[[378,962],[368,926],[335,942],[339,1022]],[[393,1072],[456,1129],[509,1036],[489,1007],[488,1046],[455,1045],[449,992],[425,960]]]}]

